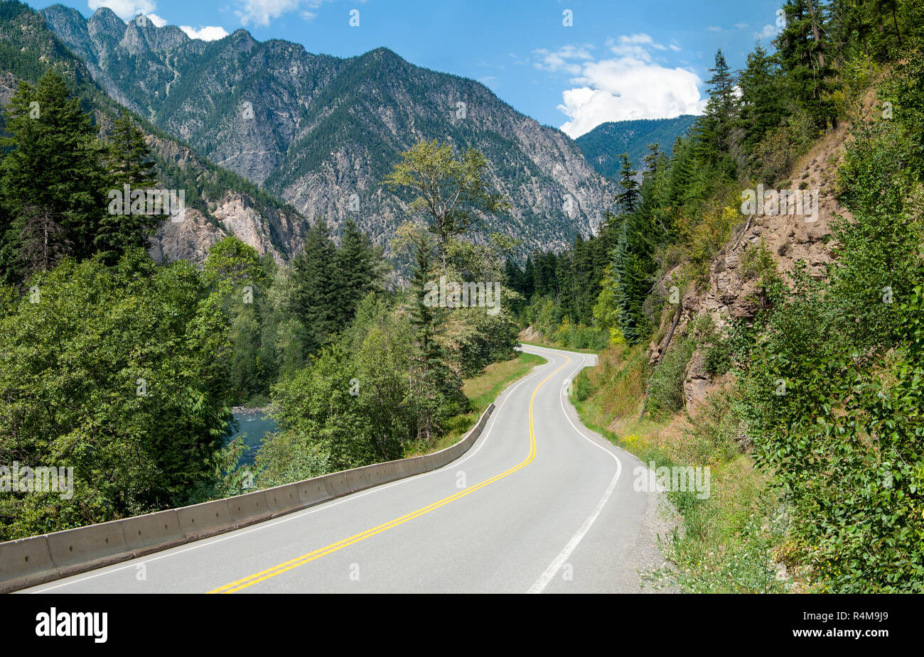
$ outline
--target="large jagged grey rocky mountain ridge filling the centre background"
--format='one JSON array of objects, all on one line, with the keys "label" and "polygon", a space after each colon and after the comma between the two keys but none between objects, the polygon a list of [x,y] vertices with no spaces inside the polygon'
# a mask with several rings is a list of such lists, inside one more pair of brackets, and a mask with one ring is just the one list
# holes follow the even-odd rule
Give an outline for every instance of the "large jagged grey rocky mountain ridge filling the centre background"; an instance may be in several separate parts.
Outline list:
[{"label": "large jagged grey rocky mountain ridge filling the centre background", "polygon": [[378,244],[405,221],[408,200],[381,181],[421,138],[484,153],[489,183],[512,206],[487,226],[517,237],[520,256],[569,245],[612,205],[614,185],[564,133],[386,48],[339,58],[246,30],[201,42],[105,7],[89,19],[60,5],[41,13],[118,102],[312,220],[354,218]]}]

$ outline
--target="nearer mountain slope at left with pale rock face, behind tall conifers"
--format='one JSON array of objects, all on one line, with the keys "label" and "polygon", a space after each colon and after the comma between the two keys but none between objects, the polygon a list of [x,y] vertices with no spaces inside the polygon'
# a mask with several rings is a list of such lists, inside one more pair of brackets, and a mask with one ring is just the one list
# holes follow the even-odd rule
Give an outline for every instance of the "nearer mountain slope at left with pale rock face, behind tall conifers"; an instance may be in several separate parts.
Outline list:
[{"label": "nearer mountain slope at left with pale rock face, behind tall conifers", "polygon": [[[0,2],[0,104],[6,105],[18,80],[34,83],[49,67],[67,80],[83,107],[93,113],[100,133],[107,133],[122,107],[48,30],[42,16],[22,3]],[[165,221],[152,238],[155,259],[185,258],[201,263],[209,246],[228,233],[278,261],[301,247],[309,223],[296,209],[202,158],[195,149],[143,118],[136,118],[152,149],[158,182],[166,189],[183,189],[186,194],[186,221]]]}]

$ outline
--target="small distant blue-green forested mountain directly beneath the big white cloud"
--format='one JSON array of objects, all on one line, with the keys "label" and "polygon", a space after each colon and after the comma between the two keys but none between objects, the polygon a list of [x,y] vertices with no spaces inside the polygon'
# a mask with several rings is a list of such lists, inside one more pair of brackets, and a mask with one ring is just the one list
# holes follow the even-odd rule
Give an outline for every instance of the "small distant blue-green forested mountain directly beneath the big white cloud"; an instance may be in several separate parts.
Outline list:
[{"label": "small distant blue-green forested mountain directly beneath the big white cloud", "polygon": [[619,175],[619,156],[629,154],[629,161],[640,171],[649,144],[658,144],[670,156],[677,137],[686,135],[697,117],[681,114],[673,119],[637,119],[609,121],[575,139],[587,161],[602,175]]}]

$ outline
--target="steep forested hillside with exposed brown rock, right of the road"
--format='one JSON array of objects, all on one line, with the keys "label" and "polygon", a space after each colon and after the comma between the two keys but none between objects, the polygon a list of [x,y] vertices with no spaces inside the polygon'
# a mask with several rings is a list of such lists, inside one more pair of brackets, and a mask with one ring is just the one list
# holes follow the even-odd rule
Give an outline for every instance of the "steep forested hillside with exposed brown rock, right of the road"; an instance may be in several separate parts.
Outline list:
[{"label": "steep forested hillside with exposed brown rock, right of the road", "polygon": [[531,335],[605,347],[585,423],[712,469],[654,582],[921,592],[924,6],[784,13],[600,233],[508,281]]}]

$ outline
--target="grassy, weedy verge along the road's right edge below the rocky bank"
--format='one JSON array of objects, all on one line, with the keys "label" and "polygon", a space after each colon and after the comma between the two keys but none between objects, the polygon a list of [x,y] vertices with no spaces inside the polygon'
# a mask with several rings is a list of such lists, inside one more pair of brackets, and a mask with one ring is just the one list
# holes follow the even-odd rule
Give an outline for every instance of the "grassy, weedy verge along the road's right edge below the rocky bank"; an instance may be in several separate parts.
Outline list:
[{"label": "grassy, weedy verge along the road's right edge below the rocky bank", "polygon": [[679,412],[638,420],[649,372],[639,353],[639,347],[604,350],[601,364],[586,370],[584,399],[572,402],[584,424],[646,464],[710,468],[707,498],[667,492],[683,520],[661,545],[668,566],[646,581],[686,592],[789,591],[777,563],[784,561],[786,519],[769,478],[738,447],[734,391],[716,393],[692,418]]}]

